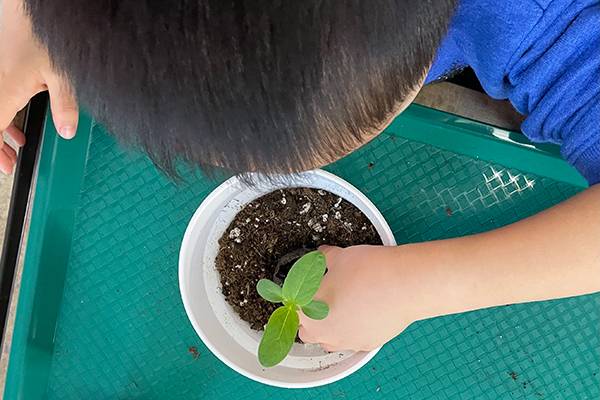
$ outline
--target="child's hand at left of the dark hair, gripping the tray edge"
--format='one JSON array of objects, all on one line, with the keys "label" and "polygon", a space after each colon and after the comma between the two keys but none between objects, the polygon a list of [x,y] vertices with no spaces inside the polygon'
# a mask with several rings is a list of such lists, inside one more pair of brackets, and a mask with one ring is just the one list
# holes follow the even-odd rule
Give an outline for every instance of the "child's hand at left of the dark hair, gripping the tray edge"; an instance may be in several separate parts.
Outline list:
[{"label": "child's hand at left of the dark hair, gripping the tray edge", "polygon": [[[60,22],[57,22],[60,23]],[[16,146],[25,137],[12,121],[35,94],[48,90],[56,129],[65,139],[75,136],[78,107],[67,79],[50,65],[46,50],[31,31],[20,0],[0,2],[0,132]],[[0,138],[0,170],[11,173],[16,151]]]}]

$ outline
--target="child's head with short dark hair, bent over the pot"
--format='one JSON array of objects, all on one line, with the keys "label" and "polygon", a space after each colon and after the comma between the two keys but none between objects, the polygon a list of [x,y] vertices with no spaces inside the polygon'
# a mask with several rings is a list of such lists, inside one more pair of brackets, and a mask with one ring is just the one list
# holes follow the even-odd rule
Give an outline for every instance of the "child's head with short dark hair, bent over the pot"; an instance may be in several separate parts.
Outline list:
[{"label": "child's head with short dark hair, bent over the pot", "polygon": [[456,0],[24,0],[79,101],[163,165],[298,171],[380,132]]}]

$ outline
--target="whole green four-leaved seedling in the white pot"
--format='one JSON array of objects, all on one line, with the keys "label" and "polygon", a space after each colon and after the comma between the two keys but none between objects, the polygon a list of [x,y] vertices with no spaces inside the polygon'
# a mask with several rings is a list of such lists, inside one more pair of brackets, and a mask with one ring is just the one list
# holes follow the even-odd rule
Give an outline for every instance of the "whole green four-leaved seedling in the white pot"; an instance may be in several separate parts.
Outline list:
[{"label": "whole green four-leaved seedling in the white pot", "polygon": [[313,251],[300,257],[288,272],[283,287],[269,279],[256,285],[258,294],[271,303],[283,303],[269,317],[258,346],[258,361],[263,367],[274,367],[288,355],[298,334],[298,312],[312,319],[323,319],[329,306],[313,300],[325,275],[325,256]]}]

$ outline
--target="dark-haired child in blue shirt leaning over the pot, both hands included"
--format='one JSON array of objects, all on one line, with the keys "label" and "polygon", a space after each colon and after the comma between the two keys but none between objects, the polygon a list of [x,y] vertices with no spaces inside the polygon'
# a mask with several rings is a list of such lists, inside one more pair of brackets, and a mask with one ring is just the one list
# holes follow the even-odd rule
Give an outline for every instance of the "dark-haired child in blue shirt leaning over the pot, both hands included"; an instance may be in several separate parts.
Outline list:
[{"label": "dark-haired child in blue shirt leaning over the pot, both hands included", "polygon": [[[47,88],[65,138],[76,97],[166,168],[294,172],[364,144],[424,83],[470,65],[530,139],[600,182],[599,0],[4,0],[0,18],[0,128],[20,144],[10,121]],[[14,159],[4,145],[2,169]],[[593,187],[481,235],[324,248],[331,312],[300,336],[369,350],[419,319],[599,291],[599,237]]]}]

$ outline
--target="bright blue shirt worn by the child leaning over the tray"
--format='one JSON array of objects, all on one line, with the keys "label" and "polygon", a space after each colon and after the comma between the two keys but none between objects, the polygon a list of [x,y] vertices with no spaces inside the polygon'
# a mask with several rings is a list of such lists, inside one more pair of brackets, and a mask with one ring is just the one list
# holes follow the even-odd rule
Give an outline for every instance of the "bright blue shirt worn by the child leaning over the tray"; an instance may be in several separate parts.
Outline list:
[{"label": "bright blue shirt worn by the child leaning over the tray", "polygon": [[426,82],[466,65],[600,183],[600,0],[461,0]]}]

